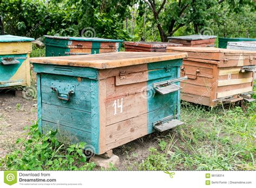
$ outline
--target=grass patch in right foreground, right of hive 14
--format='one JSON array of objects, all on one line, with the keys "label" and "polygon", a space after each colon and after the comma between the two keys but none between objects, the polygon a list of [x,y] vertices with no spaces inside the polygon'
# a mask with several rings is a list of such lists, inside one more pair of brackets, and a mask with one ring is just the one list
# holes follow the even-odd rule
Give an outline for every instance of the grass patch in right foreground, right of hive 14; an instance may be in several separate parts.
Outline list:
[{"label": "grass patch in right foreground, right of hive 14", "polygon": [[181,114],[185,124],[160,136],[139,170],[256,169],[255,102],[225,109],[183,102]]}]

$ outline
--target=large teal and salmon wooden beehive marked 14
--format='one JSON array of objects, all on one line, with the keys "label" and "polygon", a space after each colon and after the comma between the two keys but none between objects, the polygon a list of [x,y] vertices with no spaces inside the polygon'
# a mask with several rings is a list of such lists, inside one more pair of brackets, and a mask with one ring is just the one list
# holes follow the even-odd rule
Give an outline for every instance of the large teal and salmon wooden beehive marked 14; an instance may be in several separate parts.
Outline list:
[{"label": "large teal and salmon wooden beehive marked 14", "polygon": [[[186,53],[116,52],[31,58],[40,129],[59,129],[96,154],[182,124],[180,66]],[[64,135],[64,136],[63,136]]]}]

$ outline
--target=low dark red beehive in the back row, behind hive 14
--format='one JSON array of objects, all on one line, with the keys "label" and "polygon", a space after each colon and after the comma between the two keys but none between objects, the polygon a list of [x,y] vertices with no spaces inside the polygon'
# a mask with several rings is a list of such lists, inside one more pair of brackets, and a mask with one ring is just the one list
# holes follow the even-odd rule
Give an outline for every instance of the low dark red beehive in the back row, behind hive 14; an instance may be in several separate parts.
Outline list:
[{"label": "low dark red beehive in the back row, behind hive 14", "polygon": [[124,42],[126,52],[166,52],[167,46],[182,46],[182,44],[145,41]]}]

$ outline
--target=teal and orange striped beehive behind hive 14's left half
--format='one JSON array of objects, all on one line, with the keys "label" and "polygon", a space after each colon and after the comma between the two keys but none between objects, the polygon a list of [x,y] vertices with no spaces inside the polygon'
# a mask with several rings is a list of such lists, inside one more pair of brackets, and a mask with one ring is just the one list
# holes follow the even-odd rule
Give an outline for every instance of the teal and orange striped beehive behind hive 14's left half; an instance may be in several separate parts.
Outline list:
[{"label": "teal and orange striped beehive behind hive 14's left half", "polygon": [[97,37],[45,36],[45,56],[84,55],[119,52],[123,40]]}]

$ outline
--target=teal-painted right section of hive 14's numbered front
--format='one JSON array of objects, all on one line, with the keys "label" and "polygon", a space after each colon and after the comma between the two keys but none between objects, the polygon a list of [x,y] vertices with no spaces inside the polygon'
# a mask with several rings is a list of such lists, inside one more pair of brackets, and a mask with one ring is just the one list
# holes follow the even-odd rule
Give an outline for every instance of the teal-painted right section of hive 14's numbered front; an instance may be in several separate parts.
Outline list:
[{"label": "teal-painted right section of hive 14's numbered front", "polygon": [[[149,71],[147,81],[147,133],[154,131],[153,124],[164,117],[177,115],[179,110],[180,93],[172,92],[161,95],[153,89],[153,83],[170,80],[180,76],[182,59],[153,62],[147,64]],[[179,83],[177,83],[179,85]]]}]

